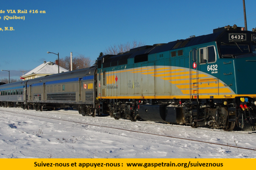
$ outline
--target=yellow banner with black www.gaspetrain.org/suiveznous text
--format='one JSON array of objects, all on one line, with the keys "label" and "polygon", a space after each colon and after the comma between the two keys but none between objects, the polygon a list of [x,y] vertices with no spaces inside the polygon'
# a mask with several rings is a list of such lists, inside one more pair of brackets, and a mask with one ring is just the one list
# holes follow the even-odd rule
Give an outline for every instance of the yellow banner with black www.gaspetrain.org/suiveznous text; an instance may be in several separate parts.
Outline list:
[{"label": "yellow banner with black www.gaspetrain.org/suiveznous text", "polygon": [[2,170],[42,169],[244,169],[256,159],[0,159]]}]

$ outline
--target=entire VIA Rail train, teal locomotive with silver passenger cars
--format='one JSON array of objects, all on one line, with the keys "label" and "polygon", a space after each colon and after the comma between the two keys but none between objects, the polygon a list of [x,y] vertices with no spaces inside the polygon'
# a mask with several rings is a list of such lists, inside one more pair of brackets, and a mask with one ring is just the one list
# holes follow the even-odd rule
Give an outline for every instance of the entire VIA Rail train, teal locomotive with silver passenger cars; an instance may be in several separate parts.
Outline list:
[{"label": "entire VIA Rail train, teal locomotive with silver passenger cars", "polygon": [[255,66],[255,29],[226,26],[104,55],[97,67],[0,85],[0,105],[73,107],[83,116],[255,130]]}]

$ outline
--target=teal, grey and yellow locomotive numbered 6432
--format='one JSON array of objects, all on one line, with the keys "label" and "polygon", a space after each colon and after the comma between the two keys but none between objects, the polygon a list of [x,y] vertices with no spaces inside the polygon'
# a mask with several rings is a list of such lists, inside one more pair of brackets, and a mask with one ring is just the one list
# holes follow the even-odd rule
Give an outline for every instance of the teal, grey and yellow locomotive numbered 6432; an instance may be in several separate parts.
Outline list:
[{"label": "teal, grey and yellow locomotive numbered 6432", "polygon": [[256,33],[242,28],[98,59],[100,112],[119,119],[253,130]]}]

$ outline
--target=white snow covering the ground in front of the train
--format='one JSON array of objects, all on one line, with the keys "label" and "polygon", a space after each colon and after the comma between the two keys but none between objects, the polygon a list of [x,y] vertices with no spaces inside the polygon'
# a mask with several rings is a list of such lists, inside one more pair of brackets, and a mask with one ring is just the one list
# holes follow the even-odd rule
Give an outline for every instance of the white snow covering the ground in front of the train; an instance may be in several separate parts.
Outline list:
[{"label": "white snow covering the ground in front of the train", "polygon": [[[130,131],[102,126],[121,127]],[[256,158],[256,151],[253,150],[136,133],[131,130],[256,149],[254,132],[225,132],[130,122],[109,117],[81,116],[77,111],[40,112],[0,108],[0,158]]]}]

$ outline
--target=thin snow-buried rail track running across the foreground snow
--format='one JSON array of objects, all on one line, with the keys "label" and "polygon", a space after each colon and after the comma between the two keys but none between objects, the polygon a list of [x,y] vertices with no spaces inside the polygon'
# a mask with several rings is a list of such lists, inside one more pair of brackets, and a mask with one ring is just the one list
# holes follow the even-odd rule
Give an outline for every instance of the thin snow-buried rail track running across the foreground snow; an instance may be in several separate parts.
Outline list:
[{"label": "thin snow-buried rail track running across the foreground snow", "polygon": [[[154,136],[162,136],[162,137],[166,137],[166,138],[187,140],[187,141],[193,141],[193,142],[201,142],[201,143],[206,143],[206,144],[214,144],[214,145],[219,145],[219,146],[223,146],[223,147],[234,147],[234,148],[238,148],[238,149],[246,149],[246,150],[254,150],[254,151],[256,151],[256,149],[251,149],[251,148],[246,148],[246,147],[238,147],[238,146],[233,146],[231,144],[230,145],[228,145],[228,144],[218,144],[218,143],[213,143],[213,142],[205,142],[205,141],[199,141],[199,140],[194,140],[194,139],[186,139],[186,138],[180,138],[180,137],[175,137],[175,136],[168,136],[168,135],[161,135],[161,134],[155,134],[155,133],[140,132],[140,131],[136,131],[136,130],[128,130],[128,129],[118,128],[118,127],[110,127],[110,126],[105,126],[105,125],[94,125],[94,124],[90,124],[90,123],[83,123],[83,122],[75,122],[75,121],[64,120],[64,119],[49,118],[49,117],[45,117],[45,116],[36,116],[36,115],[31,115],[31,114],[26,114],[26,113],[17,113],[17,112],[13,112],[13,111],[5,111],[5,112],[20,114],[20,115],[26,115],[26,116],[40,117],[40,118],[45,118],[45,119],[59,120],[59,121],[64,121],[64,122],[72,122],[72,123],[77,123],[77,124],[82,124],[82,125],[91,125],[91,126],[96,126],[96,127],[105,127],[105,128],[110,128],[110,129],[116,129],[116,130],[123,130],[123,131],[133,132],[133,133],[143,133],[143,134],[154,135]],[[54,112],[54,113],[59,113],[59,112]]]}]

